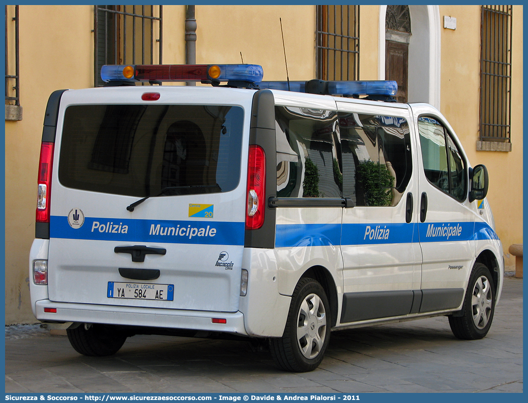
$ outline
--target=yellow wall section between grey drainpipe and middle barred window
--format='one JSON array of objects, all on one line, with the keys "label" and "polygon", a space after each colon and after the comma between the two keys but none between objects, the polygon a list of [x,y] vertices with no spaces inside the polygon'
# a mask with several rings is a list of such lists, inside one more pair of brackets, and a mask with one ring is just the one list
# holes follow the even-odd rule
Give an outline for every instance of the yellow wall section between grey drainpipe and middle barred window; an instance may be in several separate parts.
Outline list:
[{"label": "yellow wall section between grey drainpipe and middle barred window", "polygon": [[[221,16],[221,17],[219,17]],[[315,6],[196,6],[196,63],[260,64],[264,80],[315,78]]]}]

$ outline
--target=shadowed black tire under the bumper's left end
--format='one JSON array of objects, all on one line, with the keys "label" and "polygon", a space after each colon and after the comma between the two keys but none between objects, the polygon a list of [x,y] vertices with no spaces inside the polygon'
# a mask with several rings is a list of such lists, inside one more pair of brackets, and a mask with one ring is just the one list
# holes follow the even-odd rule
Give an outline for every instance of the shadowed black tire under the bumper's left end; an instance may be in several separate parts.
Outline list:
[{"label": "shadowed black tire under the bumper's left end", "polygon": [[112,356],[125,343],[124,333],[116,331],[111,325],[81,323],[75,329],[68,329],[71,346],[83,356]]}]

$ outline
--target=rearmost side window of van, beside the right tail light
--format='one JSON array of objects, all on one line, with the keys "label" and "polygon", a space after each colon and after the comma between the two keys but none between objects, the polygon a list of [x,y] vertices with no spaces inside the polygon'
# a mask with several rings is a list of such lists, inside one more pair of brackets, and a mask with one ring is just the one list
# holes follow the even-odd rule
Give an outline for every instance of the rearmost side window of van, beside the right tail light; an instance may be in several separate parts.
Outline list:
[{"label": "rearmost side window of van, beside the right tail light", "polygon": [[335,111],[275,107],[277,197],[342,197]]}]

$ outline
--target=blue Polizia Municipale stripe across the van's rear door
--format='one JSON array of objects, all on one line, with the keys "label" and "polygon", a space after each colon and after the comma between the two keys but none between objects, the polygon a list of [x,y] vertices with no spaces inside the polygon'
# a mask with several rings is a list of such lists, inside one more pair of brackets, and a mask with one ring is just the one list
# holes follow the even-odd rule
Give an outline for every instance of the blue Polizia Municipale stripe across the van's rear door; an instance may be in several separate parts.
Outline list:
[{"label": "blue Polizia Municipale stripe across the van's rear door", "polygon": [[244,223],[86,217],[72,228],[68,217],[51,216],[50,237],[94,241],[243,245]]}]

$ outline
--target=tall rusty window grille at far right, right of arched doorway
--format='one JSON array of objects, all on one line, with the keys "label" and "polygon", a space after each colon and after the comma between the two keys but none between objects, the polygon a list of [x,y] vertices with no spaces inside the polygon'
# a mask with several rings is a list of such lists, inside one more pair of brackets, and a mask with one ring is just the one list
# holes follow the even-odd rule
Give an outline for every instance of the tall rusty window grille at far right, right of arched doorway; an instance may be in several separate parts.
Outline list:
[{"label": "tall rusty window grille at far right, right of arched doorway", "polygon": [[480,25],[480,141],[510,142],[512,6],[482,6]]}]

